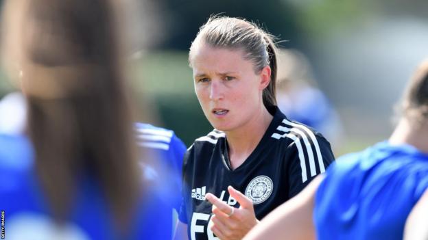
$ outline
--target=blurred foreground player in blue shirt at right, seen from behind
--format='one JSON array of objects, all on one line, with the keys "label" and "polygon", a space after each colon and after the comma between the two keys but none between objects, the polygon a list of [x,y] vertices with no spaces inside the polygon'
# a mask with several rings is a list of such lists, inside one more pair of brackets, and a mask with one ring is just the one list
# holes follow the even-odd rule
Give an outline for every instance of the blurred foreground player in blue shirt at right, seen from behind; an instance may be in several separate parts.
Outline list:
[{"label": "blurred foreground player in blue shirt at right, seen from behind", "polygon": [[428,198],[428,62],[401,109],[388,141],[337,159],[246,239],[403,239],[405,225],[407,239],[426,237],[426,222],[417,222],[426,213],[417,209],[427,209]]}]

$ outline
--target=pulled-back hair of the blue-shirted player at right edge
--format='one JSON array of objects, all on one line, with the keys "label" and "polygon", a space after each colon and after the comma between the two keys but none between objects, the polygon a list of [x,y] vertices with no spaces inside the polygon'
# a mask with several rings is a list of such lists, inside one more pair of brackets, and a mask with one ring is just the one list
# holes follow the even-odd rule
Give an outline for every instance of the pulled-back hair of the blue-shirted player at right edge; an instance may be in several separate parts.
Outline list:
[{"label": "pulled-back hair of the blue-shirted player at right edge", "polygon": [[428,60],[420,64],[408,83],[401,109],[409,120],[428,120]]}]

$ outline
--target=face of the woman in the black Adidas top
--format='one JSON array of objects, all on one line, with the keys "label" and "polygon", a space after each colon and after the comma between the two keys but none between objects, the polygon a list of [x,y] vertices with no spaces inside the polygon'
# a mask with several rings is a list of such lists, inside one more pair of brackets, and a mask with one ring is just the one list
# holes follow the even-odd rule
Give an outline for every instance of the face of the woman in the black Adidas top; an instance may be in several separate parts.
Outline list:
[{"label": "face of the woman in the black Adidas top", "polygon": [[251,124],[263,109],[263,89],[270,81],[270,67],[254,71],[243,51],[199,44],[192,51],[191,66],[196,96],[215,129],[233,131]]}]

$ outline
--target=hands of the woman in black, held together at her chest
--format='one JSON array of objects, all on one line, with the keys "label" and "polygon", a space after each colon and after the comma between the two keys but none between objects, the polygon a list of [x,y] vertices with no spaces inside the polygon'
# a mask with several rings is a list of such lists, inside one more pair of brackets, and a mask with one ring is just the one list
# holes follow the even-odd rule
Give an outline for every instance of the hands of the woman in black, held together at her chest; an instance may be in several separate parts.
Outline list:
[{"label": "hands of the woman in black, held together at her chest", "polygon": [[242,239],[259,221],[250,199],[232,186],[228,187],[228,191],[239,202],[239,209],[222,202],[213,194],[206,194],[206,200],[213,204],[213,224],[209,228],[219,239]]}]

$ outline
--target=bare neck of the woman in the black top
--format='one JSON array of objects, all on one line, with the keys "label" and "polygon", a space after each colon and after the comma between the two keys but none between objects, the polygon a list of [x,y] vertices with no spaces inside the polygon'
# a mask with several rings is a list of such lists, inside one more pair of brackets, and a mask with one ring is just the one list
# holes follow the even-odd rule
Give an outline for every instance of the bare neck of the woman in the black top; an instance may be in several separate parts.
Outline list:
[{"label": "bare neck of the woman in the black top", "polygon": [[272,119],[273,116],[263,106],[261,111],[255,114],[254,118],[246,126],[226,132],[230,167],[232,169],[239,167],[250,156],[268,129]]}]

